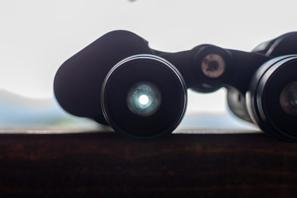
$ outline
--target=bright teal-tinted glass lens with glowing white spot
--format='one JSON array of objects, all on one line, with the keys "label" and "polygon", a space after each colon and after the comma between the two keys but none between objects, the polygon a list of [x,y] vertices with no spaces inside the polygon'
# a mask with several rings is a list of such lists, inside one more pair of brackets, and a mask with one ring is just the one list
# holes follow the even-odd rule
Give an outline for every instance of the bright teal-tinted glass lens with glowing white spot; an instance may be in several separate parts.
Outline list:
[{"label": "bright teal-tinted glass lens with glowing white spot", "polygon": [[129,88],[126,99],[127,106],[132,113],[147,117],[159,110],[162,94],[153,83],[140,81]]}]

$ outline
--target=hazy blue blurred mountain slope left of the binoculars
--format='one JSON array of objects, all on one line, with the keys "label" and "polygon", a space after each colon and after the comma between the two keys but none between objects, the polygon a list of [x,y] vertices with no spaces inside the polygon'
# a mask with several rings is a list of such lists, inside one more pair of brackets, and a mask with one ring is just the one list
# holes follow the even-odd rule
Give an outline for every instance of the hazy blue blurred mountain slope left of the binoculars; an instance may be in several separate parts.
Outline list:
[{"label": "hazy blue blurred mountain slope left of the binoculars", "polygon": [[53,124],[70,121],[54,99],[30,99],[9,91],[0,90],[0,127],[32,124]]}]

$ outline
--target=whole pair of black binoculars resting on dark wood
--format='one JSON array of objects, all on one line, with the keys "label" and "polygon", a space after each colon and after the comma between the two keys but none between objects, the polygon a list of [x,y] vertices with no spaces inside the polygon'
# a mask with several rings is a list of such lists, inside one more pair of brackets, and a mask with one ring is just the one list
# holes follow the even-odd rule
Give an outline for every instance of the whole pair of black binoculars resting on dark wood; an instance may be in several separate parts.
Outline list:
[{"label": "whole pair of black binoculars resting on dark wood", "polygon": [[252,52],[206,44],[168,53],[151,49],[130,31],[111,31],[59,67],[54,94],[70,114],[151,141],[181,122],[188,88],[210,93],[225,87],[235,115],[296,142],[296,44],[297,32],[290,32]]}]

